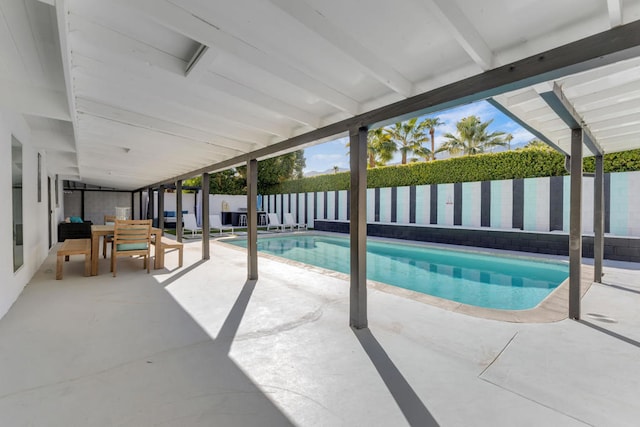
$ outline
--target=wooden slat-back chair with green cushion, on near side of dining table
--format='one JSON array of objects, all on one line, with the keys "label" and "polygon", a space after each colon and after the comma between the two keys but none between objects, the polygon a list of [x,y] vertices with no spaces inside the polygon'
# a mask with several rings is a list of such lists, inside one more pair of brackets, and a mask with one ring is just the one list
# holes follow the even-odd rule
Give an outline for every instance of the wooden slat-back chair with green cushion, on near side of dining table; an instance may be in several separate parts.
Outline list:
[{"label": "wooden slat-back chair with green cushion, on near side of dining table", "polygon": [[143,256],[147,273],[151,264],[151,220],[116,220],[111,244],[111,271],[116,277],[116,258],[120,256]]}]

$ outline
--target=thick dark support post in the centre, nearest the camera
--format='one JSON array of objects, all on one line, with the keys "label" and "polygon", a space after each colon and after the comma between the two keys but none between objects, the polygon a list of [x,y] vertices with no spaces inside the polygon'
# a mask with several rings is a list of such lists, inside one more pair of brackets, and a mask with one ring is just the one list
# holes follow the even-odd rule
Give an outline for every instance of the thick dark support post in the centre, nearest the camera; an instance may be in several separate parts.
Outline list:
[{"label": "thick dark support post in the centre, nearest the camera", "polygon": [[351,162],[351,288],[349,325],[355,329],[367,321],[367,127],[349,132]]}]

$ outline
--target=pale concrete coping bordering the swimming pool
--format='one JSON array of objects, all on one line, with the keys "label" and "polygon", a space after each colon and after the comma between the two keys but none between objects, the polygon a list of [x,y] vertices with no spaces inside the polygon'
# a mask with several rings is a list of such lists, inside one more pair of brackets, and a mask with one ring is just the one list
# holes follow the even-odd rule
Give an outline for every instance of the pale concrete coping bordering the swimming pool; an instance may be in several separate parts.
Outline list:
[{"label": "pale concrete coping bordering the swimming pool", "polygon": [[[296,231],[293,233],[286,233],[286,234],[274,233],[272,235],[261,235],[261,237],[265,237],[265,238],[281,237],[284,235],[292,235],[292,234],[294,235],[295,234],[313,234],[313,235],[344,237],[344,234],[341,234],[341,233],[331,233],[331,232],[324,232],[324,231],[301,231],[301,232]],[[232,249],[243,251],[246,253],[246,248],[242,248],[242,247],[225,242],[225,240],[236,239],[238,237],[243,237],[243,236],[240,236],[240,235],[227,236],[227,237],[221,237],[212,241],[217,244],[222,244],[227,248],[232,248]],[[372,241],[381,241],[381,242],[397,241],[397,239],[379,238],[379,237],[368,237],[368,239]],[[511,257],[515,256],[520,258],[536,259],[538,261],[540,260],[566,261],[566,258],[567,258],[563,256],[554,256],[554,255],[529,253],[529,252],[507,251],[507,250],[501,250],[501,249],[477,248],[477,247],[471,247],[471,246],[419,242],[419,241],[411,241],[411,240],[401,240],[401,241],[403,244],[409,244],[409,245],[415,244],[416,246],[430,246],[430,247],[436,247],[436,248],[447,248],[447,249],[455,249],[459,251],[485,253],[485,254],[499,253],[499,254],[503,254]],[[348,274],[340,273],[340,272],[329,270],[322,267],[317,267],[315,265],[310,265],[310,264],[305,264],[299,261],[289,260],[283,257],[267,254],[264,252],[258,252],[258,256],[265,259],[281,262],[286,265],[291,265],[291,266],[302,268],[308,271],[313,271],[315,273],[319,273],[325,276],[339,278],[347,282],[349,282],[350,280],[350,276]],[[582,280],[580,283],[581,298],[586,294],[586,292],[591,287],[591,284],[593,283],[593,281],[591,280],[592,277],[593,277],[593,267],[582,264]],[[439,298],[433,295],[423,294],[421,292],[416,292],[409,289],[400,288],[393,285],[388,285],[386,283],[377,282],[375,280],[370,280],[370,279],[367,279],[367,288],[388,293],[391,295],[407,298],[412,301],[421,302],[423,304],[428,304],[443,310],[465,314],[468,316],[479,317],[483,319],[498,320],[503,322],[512,322],[512,323],[558,322],[568,318],[568,312],[569,312],[569,308],[568,308],[569,307],[569,279],[568,278],[565,281],[563,281],[556,289],[554,289],[549,295],[547,295],[545,299],[543,299],[536,307],[530,308],[527,310],[499,310],[499,309],[492,309],[492,308],[477,307],[477,306],[463,304],[456,301],[451,301],[444,298]]]}]

